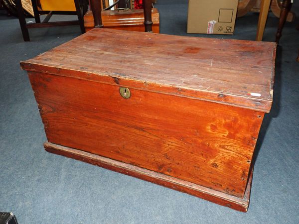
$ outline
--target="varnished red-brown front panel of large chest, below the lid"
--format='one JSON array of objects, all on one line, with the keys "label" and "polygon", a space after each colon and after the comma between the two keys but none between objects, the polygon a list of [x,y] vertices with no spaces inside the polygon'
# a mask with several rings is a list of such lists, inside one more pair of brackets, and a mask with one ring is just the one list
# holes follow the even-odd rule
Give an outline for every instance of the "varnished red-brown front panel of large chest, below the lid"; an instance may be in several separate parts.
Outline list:
[{"label": "varnished red-brown front panel of large chest, below the lid", "polygon": [[29,72],[49,142],[243,198],[264,112]]}]

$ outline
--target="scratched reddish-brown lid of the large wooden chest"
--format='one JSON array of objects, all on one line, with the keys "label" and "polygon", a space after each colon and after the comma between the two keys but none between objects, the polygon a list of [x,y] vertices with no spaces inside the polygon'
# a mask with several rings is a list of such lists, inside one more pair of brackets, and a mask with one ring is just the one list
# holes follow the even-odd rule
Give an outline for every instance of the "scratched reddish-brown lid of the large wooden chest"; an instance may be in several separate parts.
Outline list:
[{"label": "scratched reddish-brown lid of the large wooden chest", "polygon": [[272,42],[96,28],[21,67],[269,112],[275,54]]}]

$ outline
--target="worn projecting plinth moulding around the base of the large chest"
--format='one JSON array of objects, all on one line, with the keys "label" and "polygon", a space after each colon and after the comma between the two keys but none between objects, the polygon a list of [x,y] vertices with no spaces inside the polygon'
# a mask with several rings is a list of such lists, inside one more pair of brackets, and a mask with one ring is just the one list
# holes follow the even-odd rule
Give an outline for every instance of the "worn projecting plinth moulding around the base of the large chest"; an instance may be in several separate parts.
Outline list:
[{"label": "worn projecting plinth moulding around the base of the large chest", "polygon": [[45,142],[44,148],[46,151],[51,153],[77,159],[109,170],[113,170],[142,180],[146,180],[154,184],[158,184],[167,188],[174,189],[176,191],[187,193],[240,212],[247,212],[249,206],[253,169],[251,169],[244,198],[241,199],[222,192],[212,190],[210,188],[193,184],[188,181],[180,180],[178,178],[174,178],[165,174],[150,171],[138,166],[123,163],[89,152],[84,152],[78,149],[68,148],[50,142]]}]

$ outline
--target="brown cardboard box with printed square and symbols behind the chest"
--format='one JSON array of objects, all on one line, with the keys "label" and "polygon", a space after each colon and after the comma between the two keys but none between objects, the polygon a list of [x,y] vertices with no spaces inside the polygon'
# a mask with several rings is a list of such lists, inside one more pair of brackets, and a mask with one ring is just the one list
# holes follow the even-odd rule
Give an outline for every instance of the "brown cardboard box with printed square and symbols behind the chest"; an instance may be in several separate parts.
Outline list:
[{"label": "brown cardboard box with printed square and symbols behind the chest", "polygon": [[187,33],[233,34],[238,0],[189,0]]}]

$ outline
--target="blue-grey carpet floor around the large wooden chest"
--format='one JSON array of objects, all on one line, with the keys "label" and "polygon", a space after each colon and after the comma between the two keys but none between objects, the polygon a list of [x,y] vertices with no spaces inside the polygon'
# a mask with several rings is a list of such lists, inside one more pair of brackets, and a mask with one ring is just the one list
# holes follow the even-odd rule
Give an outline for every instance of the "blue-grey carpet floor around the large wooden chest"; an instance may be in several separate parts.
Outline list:
[{"label": "blue-grey carpet floor around the large wooden chest", "polygon": [[[161,33],[186,34],[187,0],[158,0]],[[299,15],[299,2],[293,10]],[[60,19],[61,17],[56,17]],[[54,18],[55,19],[55,18]],[[32,19],[28,19],[32,20]],[[254,40],[258,14],[236,21],[234,35]],[[264,40],[274,41],[270,14]],[[47,153],[37,105],[19,61],[80,35],[78,26],[31,29],[0,11],[0,211],[20,224],[219,223],[299,224],[299,24],[287,23],[278,48],[274,103],[257,145],[247,213],[87,163]]]}]

